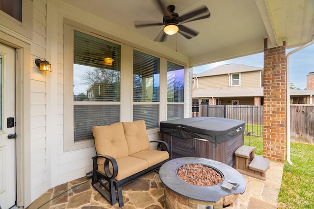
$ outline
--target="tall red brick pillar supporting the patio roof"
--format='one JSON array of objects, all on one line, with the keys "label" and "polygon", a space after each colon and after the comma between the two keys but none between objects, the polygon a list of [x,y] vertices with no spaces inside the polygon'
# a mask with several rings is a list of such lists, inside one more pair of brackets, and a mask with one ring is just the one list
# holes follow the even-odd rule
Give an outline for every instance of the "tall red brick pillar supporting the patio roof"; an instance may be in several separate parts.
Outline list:
[{"label": "tall red brick pillar supporting the patio roof", "polygon": [[283,46],[268,49],[267,39],[264,39],[263,156],[277,162],[285,161],[286,76],[286,42]]}]

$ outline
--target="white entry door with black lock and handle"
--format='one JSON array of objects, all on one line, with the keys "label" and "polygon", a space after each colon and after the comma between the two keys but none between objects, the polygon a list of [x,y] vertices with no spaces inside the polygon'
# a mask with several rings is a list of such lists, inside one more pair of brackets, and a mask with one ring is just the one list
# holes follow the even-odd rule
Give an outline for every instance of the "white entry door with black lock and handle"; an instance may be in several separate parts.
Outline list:
[{"label": "white entry door with black lock and handle", "polygon": [[[0,43],[0,207],[16,201],[15,49]],[[11,139],[9,139],[11,138]]]}]

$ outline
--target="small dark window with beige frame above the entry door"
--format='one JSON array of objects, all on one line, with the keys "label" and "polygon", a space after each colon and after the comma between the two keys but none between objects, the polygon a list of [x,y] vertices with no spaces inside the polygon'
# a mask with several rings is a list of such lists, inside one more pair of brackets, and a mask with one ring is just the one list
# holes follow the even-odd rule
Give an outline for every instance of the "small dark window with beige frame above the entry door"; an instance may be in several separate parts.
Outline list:
[{"label": "small dark window with beige frame above the entry door", "polygon": [[32,38],[33,0],[0,0],[1,24]]}]

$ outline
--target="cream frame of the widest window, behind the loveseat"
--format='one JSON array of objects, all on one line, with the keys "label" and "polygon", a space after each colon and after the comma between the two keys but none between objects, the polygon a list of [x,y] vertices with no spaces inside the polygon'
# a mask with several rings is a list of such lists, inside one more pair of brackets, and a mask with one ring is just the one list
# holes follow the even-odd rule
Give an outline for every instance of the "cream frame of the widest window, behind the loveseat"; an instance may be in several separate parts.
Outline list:
[{"label": "cream frame of the widest window, behind the loveseat", "polygon": [[[64,152],[93,147],[95,145],[93,139],[74,141],[74,105],[73,100],[73,48],[74,48],[74,30],[89,34],[91,36],[97,36],[93,33],[81,30],[77,27],[69,24],[64,24]],[[103,37],[99,37],[104,39]],[[107,40],[113,42],[112,40]],[[119,43],[117,43],[119,44]],[[100,104],[99,102],[80,102],[81,104]],[[120,105],[121,113],[121,101],[120,102],[101,102],[102,105]],[[121,116],[120,116],[121,117]]]}]

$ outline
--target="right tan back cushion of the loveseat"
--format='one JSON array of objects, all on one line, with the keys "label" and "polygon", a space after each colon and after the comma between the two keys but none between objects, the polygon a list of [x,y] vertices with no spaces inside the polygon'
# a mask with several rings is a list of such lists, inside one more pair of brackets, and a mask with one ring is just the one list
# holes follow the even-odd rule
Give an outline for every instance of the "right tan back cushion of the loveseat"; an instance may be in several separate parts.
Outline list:
[{"label": "right tan back cushion of the loveseat", "polygon": [[130,155],[151,147],[144,120],[123,122],[123,129],[128,142]]}]

